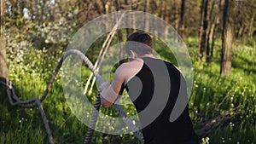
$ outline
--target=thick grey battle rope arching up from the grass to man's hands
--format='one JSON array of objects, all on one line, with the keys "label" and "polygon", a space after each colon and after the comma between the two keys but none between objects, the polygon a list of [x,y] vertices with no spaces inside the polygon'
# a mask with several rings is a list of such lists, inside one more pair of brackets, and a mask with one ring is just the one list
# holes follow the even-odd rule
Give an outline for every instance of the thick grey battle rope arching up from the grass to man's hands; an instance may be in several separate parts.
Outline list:
[{"label": "thick grey battle rope arching up from the grass to man's hands", "polygon": [[[93,64],[90,62],[90,60],[83,53],[81,53],[79,50],[76,50],[76,49],[69,49],[61,57],[61,60],[59,61],[58,65],[56,66],[55,71],[54,71],[52,77],[49,80],[49,84],[47,85],[46,89],[44,90],[44,94],[42,95],[41,98],[36,97],[36,98],[32,98],[30,100],[21,101],[18,98],[18,96],[15,95],[15,89],[12,88],[12,83],[11,82],[9,82],[9,85],[4,84],[3,82],[0,83],[0,84],[5,85],[8,88],[7,89],[7,95],[8,95],[9,103],[10,103],[11,106],[15,106],[15,105],[20,105],[20,107],[36,107],[36,106],[38,106],[39,111],[41,113],[41,117],[43,118],[45,130],[46,130],[48,138],[49,138],[49,144],[53,144],[53,138],[52,138],[52,135],[51,135],[51,131],[49,129],[48,120],[46,118],[46,115],[44,113],[44,109],[42,107],[42,101],[44,101],[46,95],[48,95],[49,90],[51,88],[51,85],[53,84],[53,81],[54,81],[57,73],[60,71],[60,68],[62,66],[63,61],[66,60],[67,56],[69,56],[69,55],[79,56],[79,58],[81,60],[83,60],[84,63],[89,67],[90,71],[93,72],[93,74],[96,76],[96,80],[100,84],[102,84],[104,82],[104,80],[102,79],[100,74],[98,72],[96,72],[96,69],[93,66]],[[15,102],[13,100],[15,100]],[[139,132],[138,128],[134,124],[132,124],[131,119],[127,117],[124,110],[118,104],[114,104],[113,106],[119,112],[119,115],[123,118],[123,121],[125,122],[125,124],[128,125],[129,129],[132,132],[134,132],[134,135],[140,141],[143,141],[143,134],[141,132]],[[98,117],[98,112],[99,112],[100,107],[101,107],[101,99],[100,99],[100,95],[97,95],[96,103],[95,103],[95,106],[94,106],[94,109],[93,109],[93,112],[92,112],[92,117],[90,119],[90,128],[87,131],[86,138],[84,140],[84,144],[90,143],[90,139],[91,139],[91,137],[93,135],[93,132],[94,132],[94,129],[95,129],[96,120],[97,120],[97,117]]]}]

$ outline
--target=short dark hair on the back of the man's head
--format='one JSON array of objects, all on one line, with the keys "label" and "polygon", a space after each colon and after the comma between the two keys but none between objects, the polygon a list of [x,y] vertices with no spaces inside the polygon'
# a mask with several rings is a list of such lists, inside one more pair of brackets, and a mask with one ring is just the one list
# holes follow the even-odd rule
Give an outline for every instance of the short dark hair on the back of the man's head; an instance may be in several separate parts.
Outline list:
[{"label": "short dark hair on the back of the man's head", "polygon": [[129,37],[125,43],[125,50],[127,53],[130,50],[134,51],[138,56],[153,54],[153,41],[152,38],[143,32],[134,32]]}]

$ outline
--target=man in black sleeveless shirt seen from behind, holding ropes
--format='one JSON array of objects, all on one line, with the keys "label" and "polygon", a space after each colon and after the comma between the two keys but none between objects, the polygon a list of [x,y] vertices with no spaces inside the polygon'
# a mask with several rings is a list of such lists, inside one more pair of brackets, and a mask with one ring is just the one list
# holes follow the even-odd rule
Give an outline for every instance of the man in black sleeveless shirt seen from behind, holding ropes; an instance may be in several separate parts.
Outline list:
[{"label": "man in black sleeveless shirt seen from behind, holding ropes", "polygon": [[188,105],[175,121],[170,120],[177,97],[188,97],[185,79],[176,66],[154,57],[153,45],[146,33],[127,38],[130,61],[118,67],[112,84],[101,85],[102,105],[111,107],[126,89],[137,109],[145,144],[199,144]]}]

